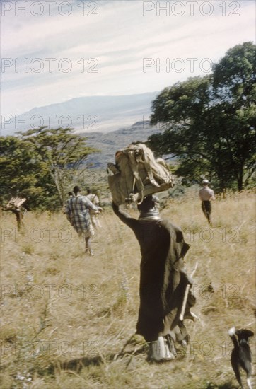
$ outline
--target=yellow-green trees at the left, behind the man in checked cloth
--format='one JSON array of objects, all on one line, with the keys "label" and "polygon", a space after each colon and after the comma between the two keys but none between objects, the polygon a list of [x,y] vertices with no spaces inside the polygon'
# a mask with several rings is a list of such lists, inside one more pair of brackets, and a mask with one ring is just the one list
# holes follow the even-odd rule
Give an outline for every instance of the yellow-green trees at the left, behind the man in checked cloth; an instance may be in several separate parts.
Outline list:
[{"label": "yellow-green trees at the left, behind the man in checked cloth", "polygon": [[72,129],[30,129],[1,137],[1,202],[25,196],[29,209],[57,209],[73,181],[86,171],[84,162],[95,149]]}]

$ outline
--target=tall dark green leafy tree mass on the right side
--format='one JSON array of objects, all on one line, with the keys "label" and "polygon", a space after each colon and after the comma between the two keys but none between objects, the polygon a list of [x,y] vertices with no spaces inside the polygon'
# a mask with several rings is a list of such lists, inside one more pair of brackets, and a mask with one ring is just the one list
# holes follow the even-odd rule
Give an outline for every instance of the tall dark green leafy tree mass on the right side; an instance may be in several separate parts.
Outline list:
[{"label": "tall dark green leafy tree mass on the right side", "polygon": [[255,45],[228,50],[211,76],[165,88],[152,109],[151,124],[163,133],[149,146],[178,158],[176,174],[243,190],[255,168]]}]

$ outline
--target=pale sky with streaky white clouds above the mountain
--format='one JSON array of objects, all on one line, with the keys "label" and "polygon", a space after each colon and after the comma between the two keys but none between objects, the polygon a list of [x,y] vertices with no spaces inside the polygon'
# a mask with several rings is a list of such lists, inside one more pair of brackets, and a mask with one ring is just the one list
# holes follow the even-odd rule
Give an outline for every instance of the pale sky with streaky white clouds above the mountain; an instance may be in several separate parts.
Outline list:
[{"label": "pale sky with streaky white clouds above the mountain", "polygon": [[1,0],[1,115],[161,91],[248,41],[254,0]]}]

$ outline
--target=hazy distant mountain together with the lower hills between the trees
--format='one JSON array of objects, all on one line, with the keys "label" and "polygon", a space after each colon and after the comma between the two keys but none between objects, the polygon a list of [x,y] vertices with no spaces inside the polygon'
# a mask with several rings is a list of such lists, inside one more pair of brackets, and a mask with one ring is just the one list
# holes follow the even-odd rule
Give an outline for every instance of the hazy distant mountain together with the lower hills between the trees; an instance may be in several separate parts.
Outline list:
[{"label": "hazy distant mountain together with the lower hills between the trees", "polygon": [[[52,120],[53,128],[68,126],[69,118],[58,122],[58,119],[68,115],[71,119],[69,127],[74,127],[76,133],[88,138],[88,144],[100,153],[88,156],[86,165],[91,168],[106,168],[107,162],[114,162],[115,152],[133,141],[146,141],[151,134],[158,131],[156,126],[150,126],[151,103],[157,92],[141,93],[123,96],[89,96],[73,98],[64,103],[33,108],[13,122],[2,124],[1,135],[11,135],[16,131],[31,128],[24,127],[22,121],[33,124],[32,127],[47,125]],[[84,128],[81,122],[84,117]],[[87,120],[87,118],[90,120]],[[78,118],[80,118],[78,120]],[[21,124],[18,125],[18,121]],[[4,127],[5,129],[3,129]]]}]

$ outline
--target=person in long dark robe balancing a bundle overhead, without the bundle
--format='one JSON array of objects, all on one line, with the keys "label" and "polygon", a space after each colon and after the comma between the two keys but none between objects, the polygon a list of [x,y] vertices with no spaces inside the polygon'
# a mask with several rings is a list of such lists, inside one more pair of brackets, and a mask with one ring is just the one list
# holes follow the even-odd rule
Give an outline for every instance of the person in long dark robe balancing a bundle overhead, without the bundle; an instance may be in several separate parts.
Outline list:
[{"label": "person in long dark robe balancing a bundle overhead, without the bundle", "polygon": [[[138,220],[114,202],[112,208],[120,220],[132,228],[141,249],[136,334],[142,335],[149,344],[149,359],[170,361],[177,356],[174,342],[186,346],[189,340],[183,318],[194,320],[190,308],[195,298],[190,288],[192,280],[184,265],[190,245],[185,243],[180,228],[161,219],[157,202],[156,196],[145,197],[138,205]],[[187,286],[190,289],[185,298]]]}]

